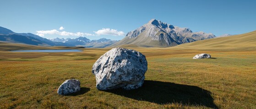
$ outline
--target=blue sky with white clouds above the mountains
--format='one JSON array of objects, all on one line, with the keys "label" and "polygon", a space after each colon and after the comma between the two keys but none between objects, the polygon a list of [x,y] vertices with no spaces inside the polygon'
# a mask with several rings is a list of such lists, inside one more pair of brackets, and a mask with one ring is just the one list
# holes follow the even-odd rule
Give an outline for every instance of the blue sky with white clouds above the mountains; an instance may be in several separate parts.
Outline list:
[{"label": "blue sky with white clouds above the mountains", "polygon": [[256,30],[255,4],[256,0],[1,0],[0,26],[50,39],[82,35],[121,40],[157,19],[194,32],[235,35]]}]

